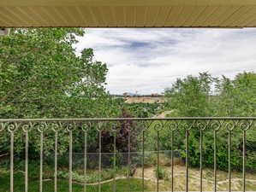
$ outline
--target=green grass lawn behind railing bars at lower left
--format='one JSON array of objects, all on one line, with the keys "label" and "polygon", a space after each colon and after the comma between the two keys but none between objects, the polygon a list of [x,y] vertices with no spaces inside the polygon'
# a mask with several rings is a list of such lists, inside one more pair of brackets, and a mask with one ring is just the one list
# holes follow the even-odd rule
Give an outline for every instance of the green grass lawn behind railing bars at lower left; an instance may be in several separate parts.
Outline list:
[{"label": "green grass lawn behind railing bars at lower left", "polygon": [[[15,173],[15,192],[24,191],[24,175],[21,172]],[[113,182],[101,184],[102,192],[113,191]],[[57,183],[58,191],[68,192],[68,180],[58,180]],[[52,192],[54,190],[53,181],[45,181],[43,184],[43,190],[45,192]],[[28,191],[36,192],[39,191],[39,181],[30,181],[28,183]],[[81,192],[83,191],[83,185],[78,183],[73,183],[73,191]],[[87,191],[98,192],[98,185],[88,185]],[[141,180],[136,178],[120,179],[116,180],[116,191],[142,191]],[[9,192],[9,173],[0,174],[0,192]]]}]

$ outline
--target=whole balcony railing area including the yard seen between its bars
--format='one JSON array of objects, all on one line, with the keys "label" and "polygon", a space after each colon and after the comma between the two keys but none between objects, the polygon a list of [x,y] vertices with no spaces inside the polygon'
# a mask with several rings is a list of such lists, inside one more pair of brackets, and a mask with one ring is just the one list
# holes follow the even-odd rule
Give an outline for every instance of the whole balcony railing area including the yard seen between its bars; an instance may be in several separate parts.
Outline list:
[{"label": "whole balcony railing area including the yard seen between its bars", "polygon": [[247,154],[256,118],[0,119],[0,125],[0,191],[247,191],[256,186]]}]

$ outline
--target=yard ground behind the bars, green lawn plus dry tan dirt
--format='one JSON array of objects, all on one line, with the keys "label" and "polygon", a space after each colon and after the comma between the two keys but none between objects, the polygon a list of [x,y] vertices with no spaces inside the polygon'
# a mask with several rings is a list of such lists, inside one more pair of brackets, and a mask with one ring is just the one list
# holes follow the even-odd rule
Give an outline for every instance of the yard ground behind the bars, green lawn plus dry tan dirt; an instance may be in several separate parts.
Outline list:
[{"label": "yard ground behind the bars, green lawn plus dry tan dirt", "polygon": [[[170,176],[171,167],[163,166],[167,174]],[[157,179],[154,172],[155,169],[148,167],[145,169],[145,191],[156,191],[157,189]],[[140,172],[139,172],[140,171]],[[174,190],[175,191],[184,191],[186,186],[186,177],[184,172],[186,172],[185,166],[175,166],[174,167],[175,177],[174,177]],[[142,182],[141,177],[141,168],[138,168],[138,173],[135,177],[116,179],[116,191],[141,191]],[[151,180],[148,180],[148,178]],[[199,169],[189,168],[189,183],[188,187],[190,191],[199,191]],[[232,190],[241,191],[242,190],[242,178],[241,172],[232,172]],[[252,173],[247,173],[247,191],[254,191],[256,188],[255,185],[256,176]],[[9,172],[1,171],[0,174],[0,191],[7,192],[9,191]],[[213,189],[214,175],[211,169],[204,169],[203,172],[203,190],[211,191]],[[15,191],[24,191],[24,174],[22,172],[15,172]],[[107,183],[101,184],[102,191],[112,191],[114,182],[110,181]],[[44,179],[43,184],[44,191],[52,191],[54,189],[54,183],[51,179]],[[58,191],[67,191],[68,189],[68,179],[59,178],[57,181]],[[81,183],[74,181],[73,183],[74,191],[82,191],[83,186]],[[159,180],[159,190],[160,191],[170,191],[171,183],[170,179],[161,179]],[[227,172],[217,171],[217,190],[218,191],[227,191],[229,189],[229,176]],[[28,185],[28,191],[38,191],[39,190],[39,180],[30,179]],[[98,191],[98,184],[94,183],[93,185],[87,185],[88,191]]]}]

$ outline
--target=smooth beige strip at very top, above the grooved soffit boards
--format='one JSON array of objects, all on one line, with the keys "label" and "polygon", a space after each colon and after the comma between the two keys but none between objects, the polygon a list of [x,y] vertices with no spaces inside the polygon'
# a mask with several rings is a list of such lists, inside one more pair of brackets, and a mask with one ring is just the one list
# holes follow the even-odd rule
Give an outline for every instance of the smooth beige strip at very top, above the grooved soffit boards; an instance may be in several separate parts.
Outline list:
[{"label": "smooth beige strip at very top, above the grooved soffit boards", "polygon": [[1,0],[0,6],[202,6],[256,5],[255,0]]}]

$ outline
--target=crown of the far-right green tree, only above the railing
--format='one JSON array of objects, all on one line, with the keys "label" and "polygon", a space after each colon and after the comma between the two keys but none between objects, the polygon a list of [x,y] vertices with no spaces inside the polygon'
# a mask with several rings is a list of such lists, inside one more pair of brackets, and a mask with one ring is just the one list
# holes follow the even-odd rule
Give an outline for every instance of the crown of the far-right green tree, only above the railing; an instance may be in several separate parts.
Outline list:
[{"label": "crown of the far-right green tree, only above the railing", "polygon": [[223,76],[218,80],[218,114],[221,116],[256,115],[256,73],[238,73],[234,80]]}]

